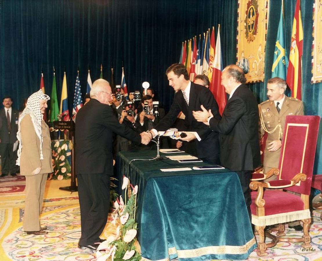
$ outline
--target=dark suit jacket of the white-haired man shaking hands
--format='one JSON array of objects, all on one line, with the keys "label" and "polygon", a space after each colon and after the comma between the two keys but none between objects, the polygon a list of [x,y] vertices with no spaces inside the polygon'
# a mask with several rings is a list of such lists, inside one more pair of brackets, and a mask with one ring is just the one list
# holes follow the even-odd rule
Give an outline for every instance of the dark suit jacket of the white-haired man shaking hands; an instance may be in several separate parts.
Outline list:
[{"label": "dark suit jacket of the white-haired man shaking hands", "polygon": [[92,98],[76,115],[76,174],[113,173],[112,135],[122,135],[137,144],[141,136],[119,124],[113,109]]}]

